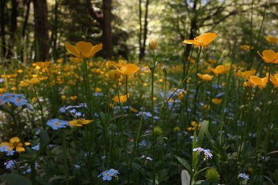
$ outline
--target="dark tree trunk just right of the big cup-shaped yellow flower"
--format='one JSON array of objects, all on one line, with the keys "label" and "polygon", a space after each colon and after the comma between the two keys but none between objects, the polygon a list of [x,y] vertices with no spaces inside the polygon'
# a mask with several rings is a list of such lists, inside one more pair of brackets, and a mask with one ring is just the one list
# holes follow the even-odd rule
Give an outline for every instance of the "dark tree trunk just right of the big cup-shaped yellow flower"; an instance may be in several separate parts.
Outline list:
[{"label": "dark tree trunk just right of the big cup-shaped yellow flower", "polygon": [[102,1],[102,10],[104,12],[104,19],[101,24],[102,29],[102,40],[104,42],[104,57],[111,58],[113,55],[113,44],[112,44],[112,0],[103,0]]}]

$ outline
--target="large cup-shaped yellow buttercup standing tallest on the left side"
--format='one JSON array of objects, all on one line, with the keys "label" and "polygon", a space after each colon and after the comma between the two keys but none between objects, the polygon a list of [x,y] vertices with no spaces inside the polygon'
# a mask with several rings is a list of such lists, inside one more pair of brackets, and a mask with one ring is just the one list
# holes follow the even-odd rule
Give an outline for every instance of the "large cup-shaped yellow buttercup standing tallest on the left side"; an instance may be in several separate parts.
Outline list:
[{"label": "large cup-shaped yellow buttercup standing tallest on the left side", "polygon": [[92,46],[90,42],[77,42],[75,46],[65,44],[65,48],[76,58],[92,58],[95,53],[102,49],[102,44]]}]

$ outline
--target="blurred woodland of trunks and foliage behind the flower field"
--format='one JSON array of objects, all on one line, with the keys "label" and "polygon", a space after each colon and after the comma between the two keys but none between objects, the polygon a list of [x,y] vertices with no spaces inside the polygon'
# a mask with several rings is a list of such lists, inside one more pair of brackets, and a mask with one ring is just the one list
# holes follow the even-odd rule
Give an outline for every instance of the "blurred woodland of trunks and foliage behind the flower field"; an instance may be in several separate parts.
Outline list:
[{"label": "blurred woodland of trunks and foliage behind the flower field", "polygon": [[1,0],[1,62],[65,58],[65,44],[82,40],[103,43],[103,58],[142,61],[156,38],[158,60],[174,64],[190,53],[183,39],[206,32],[219,35],[214,55],[236,60],[240,44],[277,36],[277,10],[277,0]]}]

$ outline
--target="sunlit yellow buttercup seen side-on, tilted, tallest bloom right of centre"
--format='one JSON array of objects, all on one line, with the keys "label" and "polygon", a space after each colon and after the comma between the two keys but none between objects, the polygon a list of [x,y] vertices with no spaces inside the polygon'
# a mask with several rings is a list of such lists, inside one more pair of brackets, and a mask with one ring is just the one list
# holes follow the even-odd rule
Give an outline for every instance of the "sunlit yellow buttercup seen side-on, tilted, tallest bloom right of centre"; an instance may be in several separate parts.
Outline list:
[{"label": "sunlit yellow buttercup seen side-on, tilted, tallest bloom right of centre", "polygon": [[217,37],[216,33],[203,33],[194,39],[185,39],[184,44],[193,44],[197,47],[208,46]]}]

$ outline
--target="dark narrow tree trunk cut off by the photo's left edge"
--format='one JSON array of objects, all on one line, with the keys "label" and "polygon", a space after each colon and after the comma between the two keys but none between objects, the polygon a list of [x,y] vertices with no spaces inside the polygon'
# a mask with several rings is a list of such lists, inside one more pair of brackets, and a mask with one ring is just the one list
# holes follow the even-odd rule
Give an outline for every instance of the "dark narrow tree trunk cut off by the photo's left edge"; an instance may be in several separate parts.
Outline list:
[{"label": "dark narrow tree trunk cut off by the photo's left edge", "polygon": [[0,0],[0,36],[1,36],[1,48],[2,48],[2,56],[6,57],[6,38],[5,38],[5,24],[6,24],[6,17],[5,17],[5,6],[6,0]]}]

